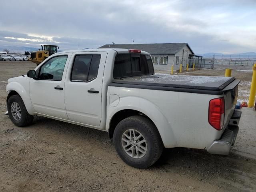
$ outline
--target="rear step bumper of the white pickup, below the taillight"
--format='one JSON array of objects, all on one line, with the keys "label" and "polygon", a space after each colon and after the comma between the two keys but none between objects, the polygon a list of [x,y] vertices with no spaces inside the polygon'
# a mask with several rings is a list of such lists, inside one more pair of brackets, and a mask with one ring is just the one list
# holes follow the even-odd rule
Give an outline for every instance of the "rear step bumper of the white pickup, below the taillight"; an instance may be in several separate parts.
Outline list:
[{"label": "rear step bumper of the white pickup, below the taillight", "polygon": [[[207,151],[211,154],[228,155],[231,146],[235,144],[236,136],[238,134],[239,127],[237,126],[241,117],[241,112],[234,110],[231,117],[230,124],[223,132],[220,140],[212,142]],[[236,121],[236,123],[233,123]],[[236,124],[236,125],[234,125]]]}]

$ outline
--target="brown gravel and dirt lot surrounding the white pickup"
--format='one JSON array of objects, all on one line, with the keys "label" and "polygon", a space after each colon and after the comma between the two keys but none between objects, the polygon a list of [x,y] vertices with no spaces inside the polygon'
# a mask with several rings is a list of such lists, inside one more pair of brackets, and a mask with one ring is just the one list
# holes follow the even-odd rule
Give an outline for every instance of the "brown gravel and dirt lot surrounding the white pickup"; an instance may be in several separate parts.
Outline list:
[{"label": "brown gravel and dirt lot surrounding the white pickup", "polygon": [[[14,126],[6,111],[8,78],[26,74],[31,62],[0,62],[0,191],[255,191],[256,112],[244,108],[229,156],[203,150],[165,150],[152,167],[127,166],[106,132],[36,117]],[[223,75],[201,70],[195,75]],[[249,81],[249,72],[234,72]],[[254,120],[254,122],[251,122]]]}]

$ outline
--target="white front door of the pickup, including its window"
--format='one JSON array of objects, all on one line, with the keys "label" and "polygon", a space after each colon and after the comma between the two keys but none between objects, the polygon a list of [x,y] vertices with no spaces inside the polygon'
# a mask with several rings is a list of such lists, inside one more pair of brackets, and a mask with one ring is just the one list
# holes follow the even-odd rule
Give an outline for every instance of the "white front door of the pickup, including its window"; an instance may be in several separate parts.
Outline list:
[{"label": "white front door of the pickup, including its window", "polygon": [[68,119],[64,102],[65,75],[72,53],[55,56],[37,69],[38,80],[30,80],[30,98],[38,114]]}]

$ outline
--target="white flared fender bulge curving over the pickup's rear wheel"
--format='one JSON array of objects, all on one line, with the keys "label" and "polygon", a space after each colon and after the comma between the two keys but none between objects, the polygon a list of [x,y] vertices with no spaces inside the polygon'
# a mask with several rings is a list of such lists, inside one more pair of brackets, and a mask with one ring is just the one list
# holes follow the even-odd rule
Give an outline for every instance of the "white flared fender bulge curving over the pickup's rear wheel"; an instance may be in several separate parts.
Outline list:
[{"label": "white flared fender bulge curving over the pickup's rear wheel", "polygon": [[166,148],[176,147],[176,139],[172,131],[170,122],[166,119],[165,114],[149,100],[138,96],[125,96],[120,98],[120,102],[116,107],[108,105],[106,130],[108,131],[110,122],[114,114],[121,110],[137,110],[142,112],[154,122],[162,138]]}]

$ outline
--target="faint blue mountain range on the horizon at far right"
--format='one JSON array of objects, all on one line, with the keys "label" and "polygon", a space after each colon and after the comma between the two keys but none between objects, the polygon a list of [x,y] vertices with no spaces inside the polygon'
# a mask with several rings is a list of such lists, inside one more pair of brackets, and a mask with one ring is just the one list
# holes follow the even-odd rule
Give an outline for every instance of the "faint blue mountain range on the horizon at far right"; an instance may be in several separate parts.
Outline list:
[{"label": "faint blue mountain range on the horizon at far right", "polygon": [[203,53],[204,58],[208,57],[223,57],[223,58],[256,58],[256,52],[245,52],[245,53],[233,53],[233,54],[222,54],[222,53]]}]

